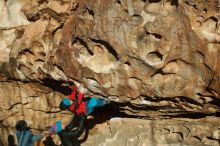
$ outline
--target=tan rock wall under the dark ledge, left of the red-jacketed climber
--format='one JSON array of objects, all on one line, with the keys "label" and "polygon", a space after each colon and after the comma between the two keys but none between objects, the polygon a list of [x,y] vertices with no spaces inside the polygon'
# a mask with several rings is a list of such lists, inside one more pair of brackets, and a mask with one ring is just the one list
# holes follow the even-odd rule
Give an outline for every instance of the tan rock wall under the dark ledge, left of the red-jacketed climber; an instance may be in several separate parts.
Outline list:
[{"label": "tan rock wall under the dark ledge, left of the red-jacketed climber", "polygon": [[39,83],[1,82],[0,95],[0,141],[3,143],[9,134],[15,134],[18,120],[25,119],[39,133],[48,130],[56,120],[62,119],[67,124],[72,118],[58,108],[62,94]]}]

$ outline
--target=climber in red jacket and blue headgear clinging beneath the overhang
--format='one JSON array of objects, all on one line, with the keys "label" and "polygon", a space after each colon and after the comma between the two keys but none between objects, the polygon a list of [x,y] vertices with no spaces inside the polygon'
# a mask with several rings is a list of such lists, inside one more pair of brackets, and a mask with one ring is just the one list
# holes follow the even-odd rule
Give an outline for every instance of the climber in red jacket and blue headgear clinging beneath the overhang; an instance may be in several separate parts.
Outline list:
[{"label": "climber in red jacket and blue headgear clinging beneath the overhang", "polygon": [[79,92],[77,95],[77,86],[73,86],[73,91],[69,95],[68,98],[64,98],[60,105],[59,108],[60,110],[66,110],[68,109],[69,111],[74,113],[74,117],[72,121],[66,126],[65,129],[71,130],[77,125],[83,125],[81,126],[79,131],[84,131],[84,121],[87,116],[89,116],[96,107],[104,106],[108,103],[110,103],[108,100],[104,99],[98,99],[95,97],[91,98],[86,98],[84,99],[84,93]]}]

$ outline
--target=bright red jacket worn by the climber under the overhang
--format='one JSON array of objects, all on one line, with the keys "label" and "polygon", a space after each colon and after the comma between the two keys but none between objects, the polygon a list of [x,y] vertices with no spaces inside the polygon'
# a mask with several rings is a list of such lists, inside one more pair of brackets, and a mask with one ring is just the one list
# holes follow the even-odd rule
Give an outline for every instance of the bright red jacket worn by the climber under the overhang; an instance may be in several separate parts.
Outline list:
[{"label": "bright red jacket worn by the climber under the overhang", "polygon": [[[86,115],[86,102],[83,101],[84,94],[79,92],[78,98],[76,98],[77,86],[73,86],[73,91],[69,95],[68,99],[74,101],[74,103],[69,107],[69,111],[73,112],[76,115]],[[75,109],[75,105],[78,102],[78,108]]]}]

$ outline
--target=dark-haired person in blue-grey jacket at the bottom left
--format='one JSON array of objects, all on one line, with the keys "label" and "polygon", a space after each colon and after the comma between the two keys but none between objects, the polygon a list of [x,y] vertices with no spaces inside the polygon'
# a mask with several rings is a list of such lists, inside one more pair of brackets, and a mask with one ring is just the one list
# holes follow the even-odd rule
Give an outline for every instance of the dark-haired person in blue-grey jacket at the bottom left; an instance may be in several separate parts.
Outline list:
[{"label": "dark-haired person in blue-grey jacket at the bottom left", "polygon": [[34,141],[43,138],[42,135],[33,135],[27,122],[20,120],[15,125],[18,146],[34,146]]}]

